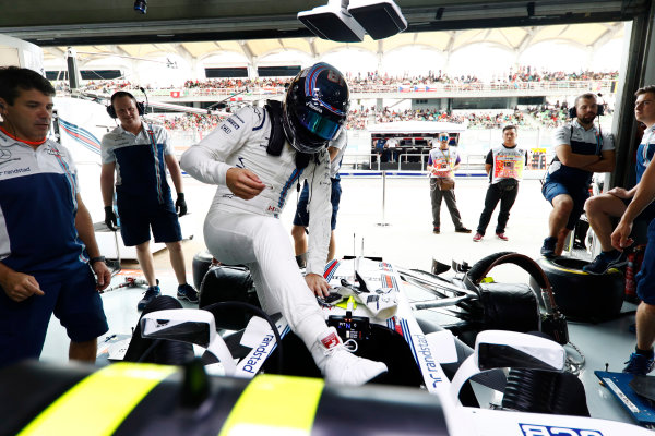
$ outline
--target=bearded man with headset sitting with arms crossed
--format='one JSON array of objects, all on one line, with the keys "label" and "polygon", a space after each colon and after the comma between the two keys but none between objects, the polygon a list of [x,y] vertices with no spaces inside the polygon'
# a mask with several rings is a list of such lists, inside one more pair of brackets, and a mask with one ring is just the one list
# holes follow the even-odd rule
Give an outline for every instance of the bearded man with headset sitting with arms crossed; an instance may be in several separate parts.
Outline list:
[{"label": "bearded man with headset sitting with arms crossed", "polygon": [[564,241],[590,197],[594,172],[610,172],[615,168],[614,138],[594,125],[596,116],[602,114],[596,96],[591,93],[577,96],[569,114],[573,121],[555,131],[556,157],[541,187],[541,194],[552,205],[548,238],[541,246],[541,255],[547,258],[561,255]]}]

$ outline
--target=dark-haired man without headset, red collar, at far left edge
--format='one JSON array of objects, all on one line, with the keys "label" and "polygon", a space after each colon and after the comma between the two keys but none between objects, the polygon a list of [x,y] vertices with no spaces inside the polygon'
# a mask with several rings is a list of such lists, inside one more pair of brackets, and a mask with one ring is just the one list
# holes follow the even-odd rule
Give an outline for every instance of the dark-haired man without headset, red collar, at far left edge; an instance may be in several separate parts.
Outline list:
[{"label": "dark-haired man without headset, red collar, at far left edge", "polygon": [[40,355],[52,313],[70,359],[94,362],[108,329],[97,290],[111,274],[71,155],[46,138],[53,95],[32,70],[0,69],[0,366]]}]

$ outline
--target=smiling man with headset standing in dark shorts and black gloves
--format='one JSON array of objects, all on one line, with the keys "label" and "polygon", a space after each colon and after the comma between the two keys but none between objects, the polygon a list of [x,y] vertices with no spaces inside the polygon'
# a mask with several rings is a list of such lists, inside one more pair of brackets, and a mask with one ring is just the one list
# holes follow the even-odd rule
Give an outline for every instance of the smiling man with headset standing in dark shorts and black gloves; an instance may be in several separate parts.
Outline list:
[{"label": "smiling man with headset standing in dark shorts and black gloves", "polygon": [[[136,308],[143,310],[159,295],[153,255],[150,251],[151,228],[155,242],[164,242],[178,280],[177,296],[198,302],[198,292],[187,283],[179,216],[187,214],[182,192],[182,174],[172,154],[168,133],[158,125],[142,121],[143,104],[130,93],[119,90],[111,96],[107,113],[120,125],[103,136],[100,154],[103,169],[100,189],[105,203],[105,222],[116,230],[114,213],[114,173],[116,172],[116,205],[120,217],[120,233],[126,246],[136,246],[136,257],[148,288]],[[166,168],[177,191],[174,205],[166,181]]]}]

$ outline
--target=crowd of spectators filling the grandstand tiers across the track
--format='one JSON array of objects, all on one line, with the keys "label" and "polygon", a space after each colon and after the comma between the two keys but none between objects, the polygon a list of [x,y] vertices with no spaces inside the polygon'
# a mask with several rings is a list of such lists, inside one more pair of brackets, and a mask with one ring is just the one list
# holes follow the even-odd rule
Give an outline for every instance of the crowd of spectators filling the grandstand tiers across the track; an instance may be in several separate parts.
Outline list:
[{"label": "crowd of spectators filling the grandstand tiers across the track", "polygon": [[[520,82],[548,82],[548,81],[600,81],[617,80],[618,72],[563,72],[536,70],[531,66],[520,66],[510,69],[504,76],[495,77],[483,82],[475,75],[450,75],[441,70],[430,71],[426,75],[389,75],[379,72],[369,73],[346,73],[346,80],[354,89],[373,86],[421,86],[430,84],[476,84],[483,83],[502,83],[512,84]],[[216,89],[229,88],[235,92],[242,92],[246,88],[282,88],[290,82],[290,77],[255,77],[255,78],[211,78],[211,80],[189,80],[183,88],[193,89]],[[57,82],[58,89],[66,87],[66,82]],[[130,81],[90,81],[84,85],[86,90],[112,94],[117,90],[138,92],[139,86]],[[153,90],[151,86],[145,85],[147,90]],[[169,87],[174,89],[172,86]],[[158,89],[164,89],[159,87]],[[168,88],[166,88],[168,89]],[[176,89],[179,89],[176,88]],[[384,108],[376,110],[374,108],[352,108],[348,113],[346,128],[349,130],[365,130],[371,123],[385,123],[394,121],[448,121],[454,123],[466,123],[469,129],[499,129],[507,124],[533,125],[544,128],[557,128],[568,121],[565,104],[559,102],[551,106],[535,106],[525,110],[498,111],[472,111],[472,112],[449,112],[440,109],[406,109],[397,110]],[[216,116],[184,114],[174,118],[166,118],[164,124],[170,130],[195,130],[209,131],[214,129],[221,122]]]}]

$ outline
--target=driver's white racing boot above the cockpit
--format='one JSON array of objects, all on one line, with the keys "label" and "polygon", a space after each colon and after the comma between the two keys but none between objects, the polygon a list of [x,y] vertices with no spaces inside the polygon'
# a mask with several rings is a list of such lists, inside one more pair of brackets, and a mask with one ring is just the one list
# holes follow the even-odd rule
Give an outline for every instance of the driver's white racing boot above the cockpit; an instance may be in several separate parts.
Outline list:
[{"label": "driver's white racing boot above the cockpit", "polygon": [[334,327],[319,335],[310,351],[329,384],[359,386],[388,371],[382,362],[350,353]]}]

